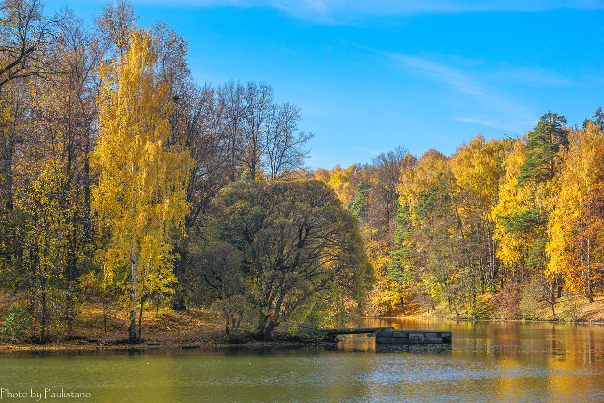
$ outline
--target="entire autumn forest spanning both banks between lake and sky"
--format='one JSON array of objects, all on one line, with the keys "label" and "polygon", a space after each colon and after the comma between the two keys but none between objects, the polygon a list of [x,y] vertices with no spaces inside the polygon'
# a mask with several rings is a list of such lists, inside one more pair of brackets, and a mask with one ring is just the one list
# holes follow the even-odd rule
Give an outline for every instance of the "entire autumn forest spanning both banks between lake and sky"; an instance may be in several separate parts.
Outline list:
[{"label": "entire autumn forest spanning both banks between lake and sky", "polygon": [[216,311],[240,341],[361,314],[576,320],[602,292],[601,109],[311,170],[300,107],[197,83],[129,2],[1,13],[2,340],[60,340],[91,302],[130,342],[152,307]]}]

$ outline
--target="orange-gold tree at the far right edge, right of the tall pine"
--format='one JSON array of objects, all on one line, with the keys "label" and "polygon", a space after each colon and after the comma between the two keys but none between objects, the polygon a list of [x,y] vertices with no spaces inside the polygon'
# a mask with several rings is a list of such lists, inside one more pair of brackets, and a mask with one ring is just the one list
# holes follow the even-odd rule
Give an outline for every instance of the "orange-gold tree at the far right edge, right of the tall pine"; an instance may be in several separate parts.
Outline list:
[{"label": "orange-gold tree at the far right edge, right of the tall pine", "polygon": [[590,301],[596,281],[602,280],[603,144],[604,133],[593,124],[570,132],[562,174],[548,205],[548,271]]}]

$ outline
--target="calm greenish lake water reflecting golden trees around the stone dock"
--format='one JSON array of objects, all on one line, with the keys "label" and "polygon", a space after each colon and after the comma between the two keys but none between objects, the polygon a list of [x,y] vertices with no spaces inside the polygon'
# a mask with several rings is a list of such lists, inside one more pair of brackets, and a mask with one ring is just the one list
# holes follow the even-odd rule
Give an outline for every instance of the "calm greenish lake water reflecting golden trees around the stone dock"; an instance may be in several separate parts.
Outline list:
[{"label": "calm greenish lake water reflecting golden trees around the stone dock", "polygon": [[[453,332],[450,347],[2,354],[0,389],[45,402],[604,402],[604,326],[367,319]],[[44,389],[50,389],[43,398]],[[51,398],[50,393],[89,393]],[[0,390],[0,392],[2,392]],[[31,396],[4,402],[34,402]]]}]

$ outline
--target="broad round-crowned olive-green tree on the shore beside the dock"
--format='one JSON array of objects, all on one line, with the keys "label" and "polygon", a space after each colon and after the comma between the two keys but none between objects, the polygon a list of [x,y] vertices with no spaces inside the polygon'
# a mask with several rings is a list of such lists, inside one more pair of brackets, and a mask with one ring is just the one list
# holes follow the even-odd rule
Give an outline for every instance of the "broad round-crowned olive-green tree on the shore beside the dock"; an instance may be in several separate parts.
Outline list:
[{"label": "broad round-crowned olive-green tree on the shore beside the dock", "polygon": [[268,339],[316,297],[362,299],[373,270],[356,219],[325,183],[241,180],[226,186],[213,207],[217,240],[245,258],[256,338]]}]

